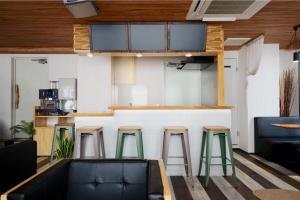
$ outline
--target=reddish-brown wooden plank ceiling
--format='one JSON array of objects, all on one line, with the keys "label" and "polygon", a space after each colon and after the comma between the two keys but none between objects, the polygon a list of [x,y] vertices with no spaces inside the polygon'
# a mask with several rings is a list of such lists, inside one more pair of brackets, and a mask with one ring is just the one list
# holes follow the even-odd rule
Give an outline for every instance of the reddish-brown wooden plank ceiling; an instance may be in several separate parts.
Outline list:
[{"label": "reddish-brown wooden plank ceiling", "polygon": [[[74,19],[63,0],[0,1],[0,52],[71,53],[73,24],[185,21],[191,0],[98,0],[100,15]],[[300,1],[271,1],[250,20],[223,22],[225,38],[255,38],[287,48],[300,23]]]}]

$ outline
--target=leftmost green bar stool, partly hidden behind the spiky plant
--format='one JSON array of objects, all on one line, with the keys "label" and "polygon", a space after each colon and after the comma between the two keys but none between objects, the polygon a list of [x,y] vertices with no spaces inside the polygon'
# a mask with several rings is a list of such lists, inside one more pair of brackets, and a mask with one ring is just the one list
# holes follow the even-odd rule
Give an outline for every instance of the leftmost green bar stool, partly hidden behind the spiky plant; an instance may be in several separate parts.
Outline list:
[{"label": "leftmost green bar stool, partly hidden behind the spiky plant", "polygon": [[59,132],[59,137],[62,139],[65,137],[65,132],[69,131],[69,137],[71,140],[74,141],[75,139],[75,124],[74,123],[61,123],[61,124],[55,124],[54,126],[54,134],[52,138],[52,147],[51,147],[51,158],[50,161],[53,160],[54,153],[56,150],[56,139],[57,139],[57,133]]}]

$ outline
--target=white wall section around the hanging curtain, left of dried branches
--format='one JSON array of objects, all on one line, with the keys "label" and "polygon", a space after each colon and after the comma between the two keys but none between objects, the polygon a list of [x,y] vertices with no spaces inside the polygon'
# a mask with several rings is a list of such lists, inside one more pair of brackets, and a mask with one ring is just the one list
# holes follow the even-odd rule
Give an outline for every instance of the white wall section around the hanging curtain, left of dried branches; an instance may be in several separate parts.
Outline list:
[{"label": "white wall section around the hanging curtain, left of dried branches", "polygon": [[279,116],[279,45],[265,44],[261,64],[247,76],[245,49],[239,52],[239,146],[254,152],[254,117]]}]

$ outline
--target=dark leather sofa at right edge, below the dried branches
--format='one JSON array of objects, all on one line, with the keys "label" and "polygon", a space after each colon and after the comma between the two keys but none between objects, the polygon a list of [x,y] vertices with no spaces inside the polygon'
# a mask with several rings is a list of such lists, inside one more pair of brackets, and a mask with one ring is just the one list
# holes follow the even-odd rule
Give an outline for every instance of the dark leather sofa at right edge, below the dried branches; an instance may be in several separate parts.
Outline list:
[{"label": "dark leather sofa at right edge, below the dried branches", "polygon": [[272,124],[300,124],[300,117],[254,118],[255,153],[300,173],[300,129]]}]

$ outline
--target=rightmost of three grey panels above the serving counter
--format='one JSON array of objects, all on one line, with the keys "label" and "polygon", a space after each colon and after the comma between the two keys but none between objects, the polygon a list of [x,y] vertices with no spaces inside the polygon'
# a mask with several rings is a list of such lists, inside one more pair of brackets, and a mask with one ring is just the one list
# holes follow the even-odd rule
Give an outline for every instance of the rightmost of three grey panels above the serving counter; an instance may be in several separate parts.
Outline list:
[{"label": "rightmost of three grey panels above the serving counter", "polygon": [[170,51],[205,51],[206,24],[169,24]]}]

